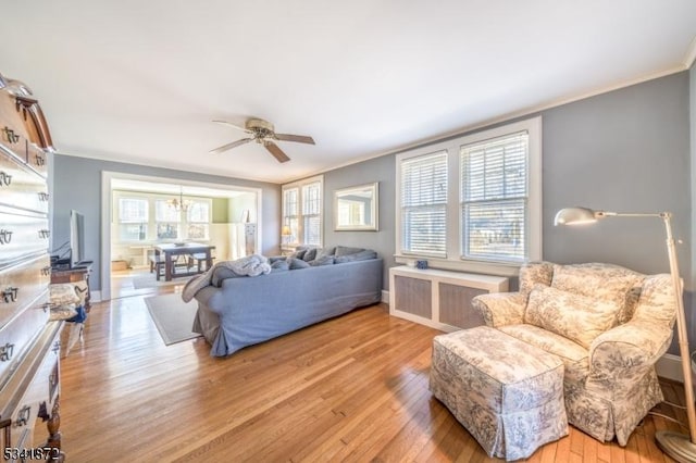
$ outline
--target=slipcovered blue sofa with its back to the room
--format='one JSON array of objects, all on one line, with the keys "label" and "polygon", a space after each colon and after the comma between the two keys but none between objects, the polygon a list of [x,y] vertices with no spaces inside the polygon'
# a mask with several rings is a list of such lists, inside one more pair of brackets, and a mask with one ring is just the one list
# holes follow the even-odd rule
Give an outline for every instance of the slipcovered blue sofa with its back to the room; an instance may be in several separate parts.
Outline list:
[{"label": "slipcovered blue sofa with its back to the room", "polygon": [[268,275],[213,276],[195,296],[194,321],[194,331],[212,346],[211,355],[229,355],[381,301],[383,261],[374,251],[336,247],[316,254],[307,261],[294,255],[284,264],[272,260]]}]

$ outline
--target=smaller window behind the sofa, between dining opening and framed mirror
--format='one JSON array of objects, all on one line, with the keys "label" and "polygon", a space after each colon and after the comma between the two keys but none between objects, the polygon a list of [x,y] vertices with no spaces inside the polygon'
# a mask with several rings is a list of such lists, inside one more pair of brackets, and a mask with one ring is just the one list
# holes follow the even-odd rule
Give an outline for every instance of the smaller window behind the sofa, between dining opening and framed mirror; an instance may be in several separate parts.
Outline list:
[{"label": "smaller window behind the sofa, between dining opening and framed mirror", "polygon": [[288,245],[322,246],[323,235],[323,177],[283,186],[283,225],[290,227]]}]

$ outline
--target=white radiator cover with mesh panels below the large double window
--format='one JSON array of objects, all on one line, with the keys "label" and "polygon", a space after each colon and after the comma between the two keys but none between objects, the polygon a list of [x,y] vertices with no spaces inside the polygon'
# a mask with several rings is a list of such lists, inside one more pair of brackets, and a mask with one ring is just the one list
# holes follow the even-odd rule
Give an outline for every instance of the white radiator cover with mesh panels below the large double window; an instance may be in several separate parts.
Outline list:
[{"label": "white radiator cover with mesh panels below the large double window", "polygon": [[443,331],[483,325],[471,300],[505,292],[508,278],[409,266],[389,268],[389,314]]}]

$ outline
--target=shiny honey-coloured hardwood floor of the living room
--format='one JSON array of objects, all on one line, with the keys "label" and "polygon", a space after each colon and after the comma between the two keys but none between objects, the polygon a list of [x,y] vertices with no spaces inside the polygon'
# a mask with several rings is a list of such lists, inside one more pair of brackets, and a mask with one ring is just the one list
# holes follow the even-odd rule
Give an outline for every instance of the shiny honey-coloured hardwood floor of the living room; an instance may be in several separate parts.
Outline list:
[{"label": "shiny honey-coloured hardwood floor of the living room", "polygon": [[[427,389],[438,333],[380,304],[214,359],[202,338],[165,347],[141,296],[95,303],[62,362],[63,450],[73,462],[499,461]],[[664,381],[667,398],[683,403],[680,386]],[[529,461],[671,462],[654,440],[664,428],[678,425],[648,416],[621,448],[571,427]]]}]

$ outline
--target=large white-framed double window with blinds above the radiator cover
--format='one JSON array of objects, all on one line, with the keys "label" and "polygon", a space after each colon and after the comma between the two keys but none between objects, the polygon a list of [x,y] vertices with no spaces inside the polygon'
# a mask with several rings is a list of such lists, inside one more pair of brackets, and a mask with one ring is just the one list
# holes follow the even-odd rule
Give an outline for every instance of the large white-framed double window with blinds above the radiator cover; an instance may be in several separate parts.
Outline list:
[{"label": "large white-framed double window with blinds above the radiator cover", "polygon": [[397,262],[513,275],[542,259],[540,117],[397,155]]}]

